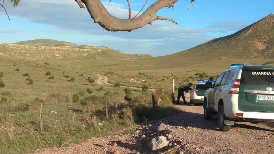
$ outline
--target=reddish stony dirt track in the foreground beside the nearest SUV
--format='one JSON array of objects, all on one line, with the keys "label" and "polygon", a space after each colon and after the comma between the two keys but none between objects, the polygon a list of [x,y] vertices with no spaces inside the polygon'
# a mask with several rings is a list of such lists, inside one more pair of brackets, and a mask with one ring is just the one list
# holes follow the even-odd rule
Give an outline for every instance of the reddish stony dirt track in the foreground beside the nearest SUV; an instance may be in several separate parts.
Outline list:
[{"label": "reddish stony dirt track in the foreground beside the nearest SUV", "polygon": [[[182,113],[154,121],[150,126],[138,126],[136,133],[118,134],[107,138],[92,138],[80,145],[47,150],[43,154],[86,153],[273,153],[274,129],[263,124],[236,123],[229,132],[219,131],[217,116],[203,119],[202,106],[177,105]],[[162,125],[164,130],[159,131]],[[132,128],[134,129],[134,128]],[[135,132],[134,131],[134,132]],[[148,144],[163,135],[169,145],[153,152]],[[117,144],[115,144],[117,143]]]}]

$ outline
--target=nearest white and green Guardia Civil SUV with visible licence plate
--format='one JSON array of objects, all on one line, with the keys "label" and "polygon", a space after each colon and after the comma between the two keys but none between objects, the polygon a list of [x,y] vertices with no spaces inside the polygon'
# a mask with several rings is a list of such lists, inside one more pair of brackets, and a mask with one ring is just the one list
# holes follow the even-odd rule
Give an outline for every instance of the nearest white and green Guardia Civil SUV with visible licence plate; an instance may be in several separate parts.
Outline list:
[{"label": "nearest white and green Guardia Civil SUV with visible licence plate", "polygon": [[274,66],[231,64],[204,96],[204,119],[218,114],[221,131],[235,121],[274,122]]}]

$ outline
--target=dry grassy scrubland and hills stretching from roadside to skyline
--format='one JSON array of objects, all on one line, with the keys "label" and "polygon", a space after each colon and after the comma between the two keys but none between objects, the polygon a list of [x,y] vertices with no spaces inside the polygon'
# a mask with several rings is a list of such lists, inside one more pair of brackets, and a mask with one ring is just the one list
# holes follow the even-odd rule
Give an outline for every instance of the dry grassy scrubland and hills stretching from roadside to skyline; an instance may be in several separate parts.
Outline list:
[{"label": "dry grassy scrubland and hills stretching from roadside to skyline", "polygon": [[[56,40],[0,43],[0,151],[23,153],[80,142],[140,120],[175,114],[178,111],[168,96],[172,79],[178,87],[215,78],[231,63],[273,64],[273,17],[185,52],[157,58]],[[116,86],[97,84],[96,74],[106,75]],[[130,93],[122,86],[143,87],[143,91]],[[104,109],[105,98],[114,108],[144,101],[147,88],[165,93],[157,111],[151,107],[114,110],[103,125],[91,116]]]}]

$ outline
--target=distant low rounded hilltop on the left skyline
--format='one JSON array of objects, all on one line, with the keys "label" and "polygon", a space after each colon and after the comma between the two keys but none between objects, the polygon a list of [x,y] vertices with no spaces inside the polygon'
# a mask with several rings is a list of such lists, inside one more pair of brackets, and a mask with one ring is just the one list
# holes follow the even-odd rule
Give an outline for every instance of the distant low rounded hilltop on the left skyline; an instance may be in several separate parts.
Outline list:
[{"label": "distant low rounded hilltop on the left skyline", "polygon": [[78,47],[78,45],[65,42],[65,41],[58,41],[58,40],[50,40],[50,39],[36,39],[36,40],[28,40],[28,41],[21,41],[14,44],[19,45],[31,45],[31,46],[53,46],[53,47],[65,47],[70,46],[72,48]]}]

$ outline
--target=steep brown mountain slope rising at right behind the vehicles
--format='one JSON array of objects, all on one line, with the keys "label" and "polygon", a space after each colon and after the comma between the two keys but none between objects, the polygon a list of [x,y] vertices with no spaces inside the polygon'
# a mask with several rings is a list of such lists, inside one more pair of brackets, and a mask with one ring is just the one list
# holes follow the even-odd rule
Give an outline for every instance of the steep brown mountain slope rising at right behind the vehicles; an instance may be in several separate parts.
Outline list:
[{"label": "steep brown mountain slope rising at right behind the vehicles", "polygon": [[182,65],[220,58],[274,58],[274,14],[270,14],[236,33],[210,40],[194,48],[162,57]]}]

